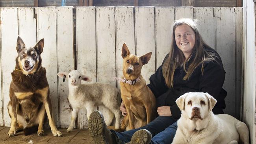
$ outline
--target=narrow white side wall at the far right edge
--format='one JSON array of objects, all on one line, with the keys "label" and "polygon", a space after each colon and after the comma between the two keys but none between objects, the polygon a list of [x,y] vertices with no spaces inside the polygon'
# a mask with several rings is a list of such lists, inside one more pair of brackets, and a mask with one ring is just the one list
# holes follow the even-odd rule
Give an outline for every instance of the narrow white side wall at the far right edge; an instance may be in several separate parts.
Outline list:
[{"label": "narrow white side wall at the far right edge", "polygon": [[[242,118],[250,130],[250,143],[256,143],[256,46],[255,46],[255,3],[243,1],[243,111]],[[255,114],[254,114],[255,113]]]}]

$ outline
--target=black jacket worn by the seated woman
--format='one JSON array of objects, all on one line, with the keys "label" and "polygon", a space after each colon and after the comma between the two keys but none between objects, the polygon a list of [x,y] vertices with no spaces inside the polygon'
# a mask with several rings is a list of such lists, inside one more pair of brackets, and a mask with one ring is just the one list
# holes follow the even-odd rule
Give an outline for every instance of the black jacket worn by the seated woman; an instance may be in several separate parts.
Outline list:
[{"label": "black jacket worn by the seated woman", "polygon": [[[181,115],[180,109],[178,108],[178,105],[176,105],[175,101],[186,92],[208,92],[217,100],[217,103],[213,108],[214,114],[223,113],[223,109],[226,107],[224,98],[227,93],[226,90],[222,88],[226,72],[224,71],[221,57],[212,48],[206,48],[206,51],[215,53],[217,56],[215,61],[204,62],[203,74],[201,72],[202,64],[199,65],[193,71],[191,77],[186,81],[183,80],[186,72],[182,66],[179,66],[174,72],[173,89],[168,88],[165,84],[162,66],[159,66],[156,73],[150,76],[150,84],[148,84],[148,87],[156,96],[157,107],[164,105],[171,106],[171,114],[174,119],[179,119]],[[189,66],[193,61],[194,56],[195,54],[191,55],[186,66]],[[167,56],[165,59],[166,58]],[[163,60],[163,62],[164,61],[165,60]]]}]

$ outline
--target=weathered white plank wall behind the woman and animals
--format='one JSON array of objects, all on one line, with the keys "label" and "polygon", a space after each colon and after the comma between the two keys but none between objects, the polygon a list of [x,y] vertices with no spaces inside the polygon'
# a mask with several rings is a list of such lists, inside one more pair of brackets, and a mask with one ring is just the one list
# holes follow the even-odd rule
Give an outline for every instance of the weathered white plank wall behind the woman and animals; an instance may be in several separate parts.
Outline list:
[{"label": "weathered white plank wall behind the woman and animals", "polygon": [[[76,67],[94,82],[119,87],[113,77],[122,76],[121,48],[125,42],[132,54],[152,52],[142,70],[149,82],[169,52],[172,24],[179,18],[196,18],[204,41],[221,55],[226,70],[224,89],[228,92],[225,112],[239,118],[242,12],[241,7],[1,8],[0,125],[10,124],[6,105],[17,55],[17,35],[27,46],[45,38],[42,65],[47,70],[54,119],[58,127],[67,127],[71,119],[68,85],[57,77],[58,72]],[[102,107],[98,109],[107,112]],[[87,127],[85,113],[79,113],[79,128]]]}]

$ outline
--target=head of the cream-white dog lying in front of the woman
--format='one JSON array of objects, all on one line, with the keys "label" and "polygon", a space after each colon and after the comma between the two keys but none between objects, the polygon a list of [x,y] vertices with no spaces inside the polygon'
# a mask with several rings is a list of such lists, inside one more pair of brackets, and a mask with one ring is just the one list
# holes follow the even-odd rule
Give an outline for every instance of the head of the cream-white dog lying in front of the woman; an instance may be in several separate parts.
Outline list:
[{"label": "head of the cream-white dog lying in front of the woman", "polygon": [[204,92],[188,92],[176,100],[182,114],[190,120],[203,120],[209,111],[212,111],[216,102],[213,96]]}]

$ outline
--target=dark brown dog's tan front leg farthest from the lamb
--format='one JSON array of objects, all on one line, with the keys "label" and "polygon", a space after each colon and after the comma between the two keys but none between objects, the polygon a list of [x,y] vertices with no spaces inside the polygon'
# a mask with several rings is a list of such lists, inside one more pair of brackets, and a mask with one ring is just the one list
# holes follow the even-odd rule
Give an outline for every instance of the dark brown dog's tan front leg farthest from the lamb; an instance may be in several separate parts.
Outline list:
[{"label": "dark brown dog's tan front leg farthest from the lamb", "polygon": [[12,103],[12,105],[10,105],[10,107],[8,107],[8,109],[11,116],[11,127],[7,135],[11,137],[16,135],[17,114],[19,109],[19,102],[17,101],[17,99],[15,100],[15,102]]}]

